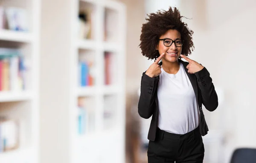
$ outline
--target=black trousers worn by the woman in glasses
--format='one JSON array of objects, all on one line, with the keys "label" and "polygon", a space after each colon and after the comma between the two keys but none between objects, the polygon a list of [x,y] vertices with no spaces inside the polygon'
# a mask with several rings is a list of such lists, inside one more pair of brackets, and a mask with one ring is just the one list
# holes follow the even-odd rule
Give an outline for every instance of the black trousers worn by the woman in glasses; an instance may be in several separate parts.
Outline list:
[{"label": "black trousers worn by the woman in glasses", "polygon": [[157,129],[148,143],[148,163],[203,163],[204,143],[199,127],[184,135]]}]

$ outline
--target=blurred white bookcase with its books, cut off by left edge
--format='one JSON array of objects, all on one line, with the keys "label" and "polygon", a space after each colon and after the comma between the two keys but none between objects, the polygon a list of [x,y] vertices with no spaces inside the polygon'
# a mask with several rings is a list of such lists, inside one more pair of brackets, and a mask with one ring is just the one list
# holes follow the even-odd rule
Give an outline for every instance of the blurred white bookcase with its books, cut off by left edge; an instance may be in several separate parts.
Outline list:
[{"label": "blurred white bookcase with its books, cut off by left edge", "polygon": [[0,0],[1,163],[38,163],[39,11],[40,0]]}]

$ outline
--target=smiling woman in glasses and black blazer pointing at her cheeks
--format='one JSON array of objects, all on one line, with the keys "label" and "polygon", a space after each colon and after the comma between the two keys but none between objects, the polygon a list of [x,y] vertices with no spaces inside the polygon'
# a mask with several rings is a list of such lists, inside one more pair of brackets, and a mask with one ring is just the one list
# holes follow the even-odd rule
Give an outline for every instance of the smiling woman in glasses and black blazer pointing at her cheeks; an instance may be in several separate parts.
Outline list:
[{"label": "smiling woman in glasses and black blazer pointing at her cheeks", "polygon": [[181,19],[170,7],[149,14],[142,26],[142,54],[155,60],[143,73],[138,104],[141,117],[152,116],[148,163],[203,163],[208,127],[202,104],[209,111],[218,107],[208,70],[187,57],[193,31]]}]

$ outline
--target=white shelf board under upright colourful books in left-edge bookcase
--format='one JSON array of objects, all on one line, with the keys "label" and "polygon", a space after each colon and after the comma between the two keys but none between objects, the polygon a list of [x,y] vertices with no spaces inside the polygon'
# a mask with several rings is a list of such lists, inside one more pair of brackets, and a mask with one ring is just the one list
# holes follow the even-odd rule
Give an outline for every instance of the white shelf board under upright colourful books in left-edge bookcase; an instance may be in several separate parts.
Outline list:
[{"label": "white shelf board under upright colourful books in left-edge bookcase", "polygon": [[26,101],[32,99],[32,93],[29,91],[2,91],[0,92],[0,102]]}]

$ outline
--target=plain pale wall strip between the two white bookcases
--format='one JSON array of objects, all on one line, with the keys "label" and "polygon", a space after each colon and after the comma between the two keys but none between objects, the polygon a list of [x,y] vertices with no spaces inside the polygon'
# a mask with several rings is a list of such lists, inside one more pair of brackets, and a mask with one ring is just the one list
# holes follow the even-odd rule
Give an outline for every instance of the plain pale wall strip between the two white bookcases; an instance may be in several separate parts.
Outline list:
[{"label": "plain pale wall strip between the two white bookcases", "polygon": [[40,163],[69,162],[70,2],[41,2]]}]

